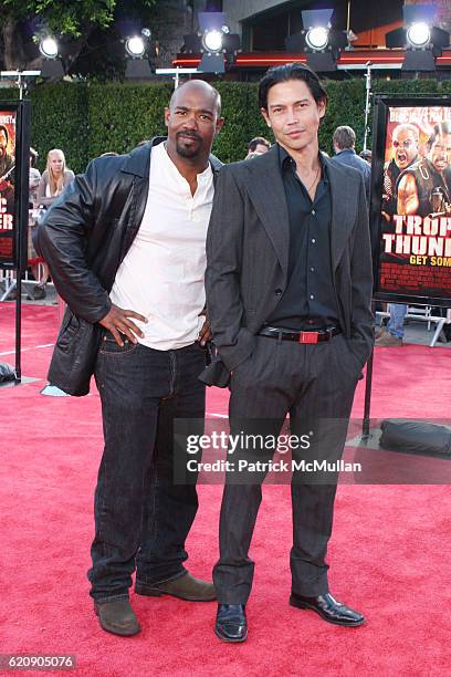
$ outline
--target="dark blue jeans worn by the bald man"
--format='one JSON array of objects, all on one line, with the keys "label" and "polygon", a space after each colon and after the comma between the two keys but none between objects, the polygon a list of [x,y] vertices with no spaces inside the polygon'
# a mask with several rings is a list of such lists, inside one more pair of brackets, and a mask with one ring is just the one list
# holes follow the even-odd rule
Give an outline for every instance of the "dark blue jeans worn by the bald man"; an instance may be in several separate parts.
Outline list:
[{"label": "dark blue jeans worn by the bald man", "polygon": [[174,483],[175,419],[204,416],[199,344],[155,351],[119,347],[106,332],[95,379],[105,448],[94,500],[95,538],[88,571],[97,602],[128,597],[132,574],[147,584],[183,575],[185,540],[198,498],[193,482]]}]

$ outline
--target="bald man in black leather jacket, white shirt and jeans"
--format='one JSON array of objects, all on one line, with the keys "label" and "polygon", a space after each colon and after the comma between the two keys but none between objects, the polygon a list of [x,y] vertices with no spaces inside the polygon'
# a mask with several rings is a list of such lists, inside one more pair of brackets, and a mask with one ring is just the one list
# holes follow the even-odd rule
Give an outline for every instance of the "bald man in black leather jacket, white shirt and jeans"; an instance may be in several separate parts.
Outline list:
[{"label": "bald man in black leather jacket, white shirt and jeans", "polygon": [[218,92],[190,81],[167,138],[95,159],[39,226],[36,250],[67,303],[49,378],[85,395],[95,375],[105,447],[88,572],[103,629],[140,631],[128,591],[216,598],[183,566],[196,486],[174,485],[174,421],[203,419],[207,227],[220,163]]}]

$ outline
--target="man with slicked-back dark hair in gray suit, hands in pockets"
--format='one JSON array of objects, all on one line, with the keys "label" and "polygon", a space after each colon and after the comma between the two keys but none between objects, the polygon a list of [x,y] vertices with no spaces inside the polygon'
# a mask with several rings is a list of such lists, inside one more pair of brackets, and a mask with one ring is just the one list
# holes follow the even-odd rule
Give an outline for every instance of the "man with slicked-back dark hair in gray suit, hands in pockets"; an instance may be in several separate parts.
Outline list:
[{"label": "man with slicked-back dark hair in gray suit, hands in pockets", "polygon": [[271,69],[259,104],[276,144],[221,170],[207,238],[218,357],[203,376],[217,377],[218,363],[231,373],[230,435],[244,440],[227,477],[213,571],[224,642],[248,635],[249,546],[273,454],[262,444],[250,455],[245,440],[279,436],[287,414],[291,433],[308,440],[293,448],[290,603],[337,625],[364,623],[331,595],[325,561],[354,392],[373,346],[364,179],[318,152],[327,95],[308,67]]}]

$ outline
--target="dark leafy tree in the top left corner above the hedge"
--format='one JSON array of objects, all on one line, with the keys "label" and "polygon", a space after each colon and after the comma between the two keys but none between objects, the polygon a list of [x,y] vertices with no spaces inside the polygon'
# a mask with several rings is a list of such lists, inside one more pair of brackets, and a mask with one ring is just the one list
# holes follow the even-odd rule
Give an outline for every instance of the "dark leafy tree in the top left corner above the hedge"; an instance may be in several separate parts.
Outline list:
[{"label": "dark leafy tree in the top left corner above the hedge", "polygon": [[107,31],[117,12],[146,14],[156,0],[2,0],[0,50],[6,70],[36,69],[42,63],[39,38],[51,33],[63,46],[63,65],[71,70],[95,30]]}]

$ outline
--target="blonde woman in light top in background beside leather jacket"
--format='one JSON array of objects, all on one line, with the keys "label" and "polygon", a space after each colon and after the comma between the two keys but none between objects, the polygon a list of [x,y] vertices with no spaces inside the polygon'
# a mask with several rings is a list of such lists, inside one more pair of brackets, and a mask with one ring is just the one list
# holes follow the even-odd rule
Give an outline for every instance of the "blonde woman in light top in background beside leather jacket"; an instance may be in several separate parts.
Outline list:
[{"label": "blonde woman in light top in background beside leather jacket", "polygon": [[[46,169],[43,171],[38,187],[38,206],[49,208],[71,184],[74,176],[74,173],[66,168],[64,153],[60,148],[49,150]],[[45,284],[50,277],[49,265],[43,260],[40,263],[42,265],[42,277],[34,288],[34,299],[45,299]]]}]

